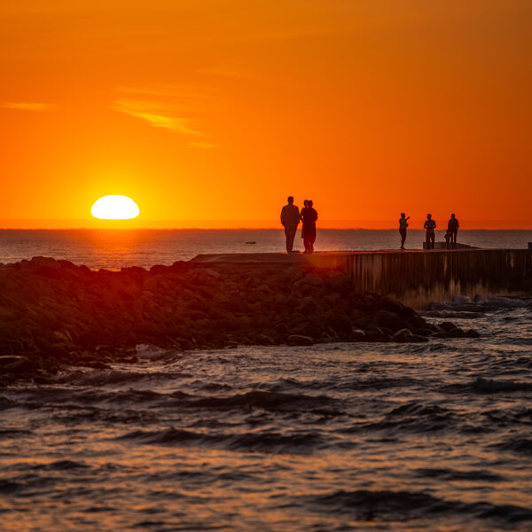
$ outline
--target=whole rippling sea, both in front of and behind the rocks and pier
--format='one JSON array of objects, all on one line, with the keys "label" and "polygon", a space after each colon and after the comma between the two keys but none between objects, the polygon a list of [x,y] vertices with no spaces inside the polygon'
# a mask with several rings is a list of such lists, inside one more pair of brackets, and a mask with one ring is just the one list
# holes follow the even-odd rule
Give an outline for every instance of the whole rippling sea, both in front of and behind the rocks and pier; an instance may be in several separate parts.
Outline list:
[{"label": "whole rippling sea, both in front of and behind the rocks and pier", "polygon": [[[111,246],[102,254],[101,240],[79,233],[54,231],[51,245],[40,231],[15,232],[16,246],[0,234],[2,262],[45,254],[116,268],[228,241],[238,244],[225,251],[283,244],[278,231],[209,231],[194,247],[192,232],[167,231],[122,243],[129,257]],[[340,232],[331,248],[396,240]],[[464,231],[462,241],[478,246],[491,232]],[[506,232],[492,247],[532,240]],[[530,530],[532,300],[435,301],[426,317],[481,338],[186,353],[139,345],[137,364],[0,388],[0,528]]]}]

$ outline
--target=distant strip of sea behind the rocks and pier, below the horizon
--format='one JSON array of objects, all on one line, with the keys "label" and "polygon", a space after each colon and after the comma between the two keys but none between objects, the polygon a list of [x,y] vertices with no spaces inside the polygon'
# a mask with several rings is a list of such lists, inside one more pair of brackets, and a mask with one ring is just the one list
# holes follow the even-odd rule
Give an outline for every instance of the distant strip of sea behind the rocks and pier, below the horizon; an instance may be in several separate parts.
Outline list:
[{"label": "distant strip of sea behind the rocks and pier, below the horizon", "polygon": [[[442,241],[444,231],[436,231]],[[303,250],[301,231],[294,249]],[[407,249],[421,249],[425,231],[409,230]],[[458,242],[483,248],[526,249],[532,230],[463,230]],[[397,249],[397,230],[321,229],[316,251],[376,251]],[[198,254],[281,253],[285,235],[280,229],[72,229],[0,230],[0,262],[20,262],[51,256],[93,270],[188,261]]]}]

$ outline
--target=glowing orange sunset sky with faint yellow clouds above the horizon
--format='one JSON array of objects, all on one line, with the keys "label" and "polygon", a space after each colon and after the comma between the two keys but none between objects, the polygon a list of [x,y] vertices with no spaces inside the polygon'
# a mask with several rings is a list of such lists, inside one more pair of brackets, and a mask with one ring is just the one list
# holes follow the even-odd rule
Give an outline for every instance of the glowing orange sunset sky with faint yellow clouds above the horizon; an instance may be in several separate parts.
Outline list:
[{"label": "glowing orange sunset sky with faint yellow clouds above the horizon", "polygon": [[532,227],[530,20],[529,0],[2,2],[0,226],[94,225],[106,194],[137,226],[272,226],[291,193],[322,226]]}]

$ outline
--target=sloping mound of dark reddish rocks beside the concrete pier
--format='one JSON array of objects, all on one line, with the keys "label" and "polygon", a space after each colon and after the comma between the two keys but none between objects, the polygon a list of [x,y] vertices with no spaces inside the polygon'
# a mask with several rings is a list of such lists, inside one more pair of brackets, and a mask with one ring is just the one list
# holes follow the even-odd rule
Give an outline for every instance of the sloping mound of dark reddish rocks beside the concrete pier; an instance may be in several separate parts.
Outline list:
[{"label": "sloping mound of dark reddish rocks beside the concrete pier", "polygon": [[310,346],[477,336],[357,291],[333,269],[175,262],[93,271],[35,257],[0,267],[0,383],[45,382],[66,364],[135,363],[135,346]]}]

